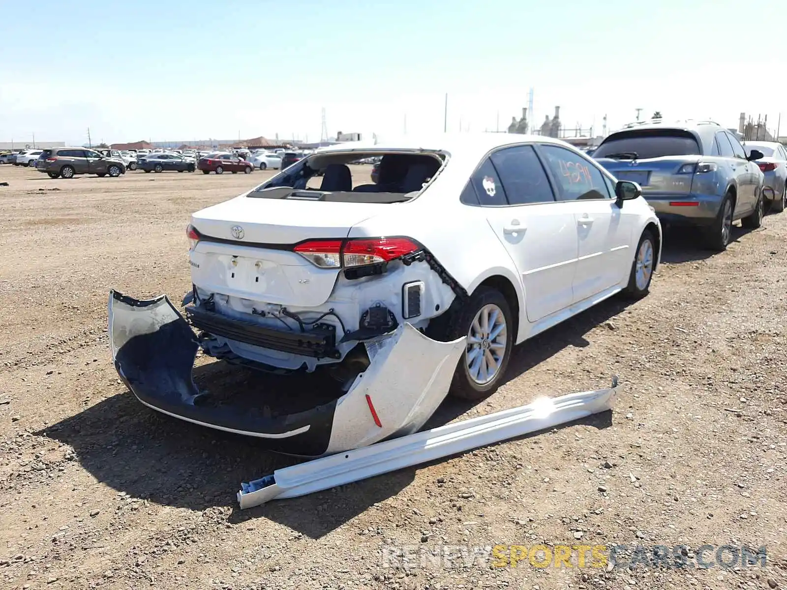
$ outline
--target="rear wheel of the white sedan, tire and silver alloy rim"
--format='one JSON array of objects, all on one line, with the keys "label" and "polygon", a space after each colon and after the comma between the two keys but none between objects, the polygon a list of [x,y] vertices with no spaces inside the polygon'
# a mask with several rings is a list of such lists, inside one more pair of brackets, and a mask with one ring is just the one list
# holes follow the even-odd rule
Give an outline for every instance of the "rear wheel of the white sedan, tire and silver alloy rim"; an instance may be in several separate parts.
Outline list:
[{"label": "rear wheel of the white sedan, tire and silver alloy rim", "polygon": [[450,315],[442,321],[438,318],[435,337],[442,341],[467,337],[449,393],[463,400],[482,400],[500,385],[511,358],[511,308],[496,289],[479,287],[461,308],[445,313]]}]

